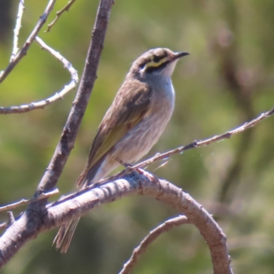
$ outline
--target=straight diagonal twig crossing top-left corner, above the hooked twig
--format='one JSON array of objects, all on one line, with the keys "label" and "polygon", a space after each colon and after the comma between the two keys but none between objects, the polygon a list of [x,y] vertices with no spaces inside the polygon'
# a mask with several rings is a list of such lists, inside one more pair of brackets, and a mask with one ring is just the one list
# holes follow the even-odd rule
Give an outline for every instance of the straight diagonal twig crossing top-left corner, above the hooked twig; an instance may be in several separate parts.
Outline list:
[{"label": "straight diagonal twig crossing top-left corner, above the hooked twig", "polygon": [[38,23],[34,27],[34,30],[32,31],[32,33],[29,35],[29,38],[27,38],[21,50],[18,53],[16,53],[14,58],[12,58],[12,61],[10,62],[10,64],[8,64],[7,68],[4,71],[0,72],[0,83],[3,82],[5,77],[7,77],[10,74],[12,69],[14,69],[14,66],[18,64],[18,62],[23,58],[23,56],[27,54],[27,50],[29,49],[30,45],[32,45],[32,42],[34,42],[34,39],[36,38],[38,32],[42,28],[42,25],[46,23],[47,16],[49,16],[49,13],[53,9],[53,5],[55,1],[56,0],[49,0],[47,8],[45,9],[45,12],[40,16]]}]

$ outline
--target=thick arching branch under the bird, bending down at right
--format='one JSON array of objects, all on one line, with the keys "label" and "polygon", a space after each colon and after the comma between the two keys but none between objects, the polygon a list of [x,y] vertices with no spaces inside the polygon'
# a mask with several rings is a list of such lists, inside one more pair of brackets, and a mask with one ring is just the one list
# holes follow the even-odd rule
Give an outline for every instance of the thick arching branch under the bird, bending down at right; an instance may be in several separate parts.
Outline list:
[{"label": "thick arching branch under the bird, bending down at right", "polygon": [[214,274],[232,274],[226,238],[212,216],[190,195],[184,193],[170,182],[150,181],[136,172],[127,174],[114,182],[90,191],[75,194],[73,199],[50,203],[44,214],[29,219],[23,214],[21,219],[11,225],[0,238],[0,267],[20,249],[23,243],[36,238],[46,230],[83,216],[92,208],[111,203],[128,195],[149,195],[158,201],[169,203],[186,215],[189,222],[199,229],[210,249]]}]

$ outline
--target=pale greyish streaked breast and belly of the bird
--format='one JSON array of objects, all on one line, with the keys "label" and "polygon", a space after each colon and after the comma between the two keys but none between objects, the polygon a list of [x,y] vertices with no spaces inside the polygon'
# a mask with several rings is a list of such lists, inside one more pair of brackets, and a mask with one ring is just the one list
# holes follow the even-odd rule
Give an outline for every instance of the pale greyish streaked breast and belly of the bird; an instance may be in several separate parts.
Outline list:
[{"label": "pale greyish streaked breast and belly of the bird", "polygon": [[149,110],[143,119],[117,142],[112,158],[132,163],[147,154],[171,119],[174,102],[175,92],[171,80],[154,84]]}]

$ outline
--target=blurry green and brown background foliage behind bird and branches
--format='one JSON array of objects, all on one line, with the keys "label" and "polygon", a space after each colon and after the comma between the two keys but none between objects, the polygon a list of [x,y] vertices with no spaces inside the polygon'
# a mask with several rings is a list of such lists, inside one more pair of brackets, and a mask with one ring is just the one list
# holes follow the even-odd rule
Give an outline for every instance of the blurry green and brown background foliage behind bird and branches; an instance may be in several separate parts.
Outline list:
[{"label": "blurry green and brown background foliage behind bird and branches", "polygon": [[[65,4],[66,0],[57,1],[54,11]],[[0,1],[0,70],[10,58],[17,5],[18,1]],[[47,1],[25,1],[20,45],[45,5]],[[97,5],[98,1],[76,1],[51,32],[39,34],[73,63],[79,75]],[[75,189],[103,114],[131,63],[147,49],[190,52],[175,69],[175,112],[150,155],[221,134],[272,108],[273,14],[273,0],[116,0],[98,79],[58,182],[60,192]],[[49,21],[54,17],[53,12]],[[0,105],[44,99],[69,79],[62,64],[34,43],[1,84]],[[75,90],[44,110],[0,116],[0,204],[32,197],[74,97]],[[175,155],[155,171],[216,216],[238,274],[274,273],[273,125],[271,117],[229,140]],[[117,273],[149,230],[176,214],[151,197],[122,199],[82,218],[66,255],[51,247],[55,229],[28,242],[1,273]],[[5,220],[1,214],[0,221]],[[185,225],[160,236],[133,273],[212,273],[212,263],[197,229]]]}]

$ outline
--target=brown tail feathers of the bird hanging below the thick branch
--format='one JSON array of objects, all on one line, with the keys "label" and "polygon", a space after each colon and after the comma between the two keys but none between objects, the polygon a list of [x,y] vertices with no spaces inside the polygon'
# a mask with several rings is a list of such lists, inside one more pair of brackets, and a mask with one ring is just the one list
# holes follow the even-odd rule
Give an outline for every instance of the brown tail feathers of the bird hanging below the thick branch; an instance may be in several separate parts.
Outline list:
[{"label": "brown tail feathers of the bird hanging below the thick branch", "polygon": [[58,234],[56,234],[53,245],[55,245],[57,249],[60,249],[61,253],[68,251],[79,219],[80,218],[64,223],[64,225],[61,225]]}]

